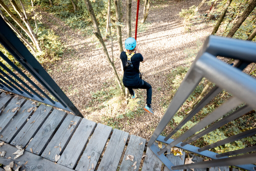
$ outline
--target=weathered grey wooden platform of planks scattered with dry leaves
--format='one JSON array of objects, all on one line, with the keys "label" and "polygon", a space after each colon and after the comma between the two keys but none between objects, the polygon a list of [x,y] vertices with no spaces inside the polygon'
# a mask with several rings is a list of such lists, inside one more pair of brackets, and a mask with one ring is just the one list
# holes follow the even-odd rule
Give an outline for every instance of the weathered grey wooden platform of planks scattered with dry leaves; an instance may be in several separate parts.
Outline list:
[{"label": "weathered grey wooden platform of planks scattered with dry leaves", "polygon": [[[144,151],[142,137],[5,93],[0,109],[0,152],[6,152],[0,163],[14,161],[12,170],[168,170],[150,148]],[[17,145],[24,153],[14,159]],[[177,165],[185,162],[185,152],[167,157]]]}]

